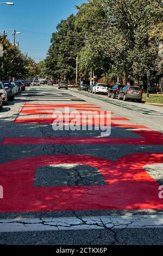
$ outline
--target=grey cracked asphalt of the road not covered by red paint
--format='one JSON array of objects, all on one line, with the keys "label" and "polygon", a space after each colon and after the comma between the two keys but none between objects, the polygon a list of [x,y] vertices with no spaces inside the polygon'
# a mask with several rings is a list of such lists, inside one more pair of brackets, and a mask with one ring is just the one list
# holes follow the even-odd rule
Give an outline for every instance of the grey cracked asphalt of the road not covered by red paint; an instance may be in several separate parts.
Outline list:
[{"label": "grey cracked asphalt of the road not covered by red paint", "polygon": [[[15,123],[15,119],[51,118],[49,114],[19,113],[24,103],[37,104],[32,108],[39,111],[40,109],[45,111],[43,105],[95,104],[102,110],[114,112],[114,118],[128,118],[129,124],[143,125],[149,130],[163,132],[162,107],[137,102],[120,102],[108,99],[105,95],[92,95],[74,89],[69,89],[67,92],[64,89],[59,91],[57,87],[52,86],[30,87],[22,95],[16,96],[15,101],[9,102],[9,106],[5,106],[0,112],[0,164],[48,155],[85,155],[117,161],[130,154],[159,154],[163,151],[163,145],[151,144],[126,144],[125,147],[123,144],[3,145],[5,138],[101,137],[100,131],[54,131],[49,123]],[[46,112],[53,112],[51,108],[46,107]],[[126,124],[126,121],[116,120],[115,123]],[[111,138],[141,139],[142,137],[131,128],[113,126]],[[147,163],[143,168],[158,186],[162,185],[162,163]],[[12,169],[10,172],[12,173]],[[106,184],[98,168],[86,163],[51,163],[37,168],[34,175],[35,189],[59,186],[65,189],[78,186],[105,187]],[[1,204],[3,200],[5,200],[5,191],[4,199],[0,199]],[[96,210],[17,212],[1,211],[0,207],[0,245],[162,245],[162,212],[161,209],[118,207],[101,210],[100,206]]]}]

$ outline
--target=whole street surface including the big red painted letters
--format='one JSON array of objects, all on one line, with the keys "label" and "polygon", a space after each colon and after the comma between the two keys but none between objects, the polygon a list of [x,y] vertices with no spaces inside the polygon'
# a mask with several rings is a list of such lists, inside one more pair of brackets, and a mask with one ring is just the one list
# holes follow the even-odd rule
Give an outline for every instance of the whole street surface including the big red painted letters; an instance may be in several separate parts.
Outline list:
[{"label": "whole street surface including the big red painted letters", "polygon": [[[54,131],[64,107],[111,113],[111,135]],[[0,112],[0,245],[162,245],[162,117],[74,88],[16,96]]]}]

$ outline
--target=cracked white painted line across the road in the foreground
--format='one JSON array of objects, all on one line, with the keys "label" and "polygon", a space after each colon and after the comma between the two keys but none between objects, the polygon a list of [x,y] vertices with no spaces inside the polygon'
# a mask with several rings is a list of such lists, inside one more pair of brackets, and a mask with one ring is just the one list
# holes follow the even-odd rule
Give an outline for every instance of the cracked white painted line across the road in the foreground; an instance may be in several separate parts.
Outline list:
[{"label": "cracked white painted line across the road in the foreground", "polygon": [[133,228],[163,228],[163,215],[15,218],[0,220],[0,233]]}]

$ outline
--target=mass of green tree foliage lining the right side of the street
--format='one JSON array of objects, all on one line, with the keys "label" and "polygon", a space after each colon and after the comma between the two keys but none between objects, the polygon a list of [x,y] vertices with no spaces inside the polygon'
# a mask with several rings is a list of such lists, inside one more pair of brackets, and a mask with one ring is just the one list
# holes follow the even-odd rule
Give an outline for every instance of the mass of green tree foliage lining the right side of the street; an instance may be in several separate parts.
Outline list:
[{"label": "mass of green tree foliage lining the right side of the street", "polygon": [[162,76],[162,0],[89,0],[77,10],[53,33],[46,59],[49,75],[73,78],[76,65],[67,59],[78,56],[83,76],[92,69],[97,78],[125,75],[134,84],[147,79],[148,69],[153,80]]}]

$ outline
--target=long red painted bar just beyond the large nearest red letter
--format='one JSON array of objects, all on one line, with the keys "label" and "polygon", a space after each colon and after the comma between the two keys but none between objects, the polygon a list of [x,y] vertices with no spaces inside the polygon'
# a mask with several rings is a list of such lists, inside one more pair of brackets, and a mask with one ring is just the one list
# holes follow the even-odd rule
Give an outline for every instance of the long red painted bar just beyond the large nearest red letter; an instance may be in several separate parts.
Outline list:
[{"label": "long red painted bar just beyond the large nearest red letter", "polygon": [[18,144],[139,144],[163,145],[163,134],[155,131],[134,131],[144,138],[5,138],[2,145]]}]

